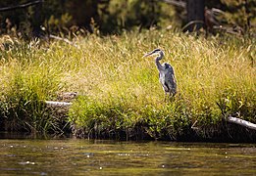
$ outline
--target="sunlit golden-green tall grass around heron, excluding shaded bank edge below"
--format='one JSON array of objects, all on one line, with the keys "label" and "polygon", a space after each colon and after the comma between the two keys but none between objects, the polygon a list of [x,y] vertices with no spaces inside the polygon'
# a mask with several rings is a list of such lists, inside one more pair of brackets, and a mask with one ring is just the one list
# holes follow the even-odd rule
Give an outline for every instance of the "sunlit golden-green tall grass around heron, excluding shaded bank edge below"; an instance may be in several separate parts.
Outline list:
[{"label": "sunlit golden-green tall grass around heron, excluding shaded bank edge below", "polygon": [[[148,30],[124,32],[120,36],[91,35],[74,42],[77,47],[60,41],[9,42],[1,53],[1,101],[10,102],[12,95],[27,102],[35,95],[40,101],[54,100],[58,93],[78,92],[82,98],[72,108],[70,119],[80,126],[88,125],[83,119],[88,113],[81,109],[89,103],[92,106],[87,110],[97,107],[89,115],[104,114],[108,118],[111,112],[106,111],[115,107],[119,110],[116,115],[131,122],[145,116],[170,116],[181,109],[187,124],[196,119],[204,122],[205,118],[218,121],[222,110],[256,120],[254,39],[205,39]],[[171,102],[165,102],[154,59],[142,58],[155,48],[163,49],[163,62],[175,68],[179,93]],[[150,113],[143,114],[147,111]]]}]

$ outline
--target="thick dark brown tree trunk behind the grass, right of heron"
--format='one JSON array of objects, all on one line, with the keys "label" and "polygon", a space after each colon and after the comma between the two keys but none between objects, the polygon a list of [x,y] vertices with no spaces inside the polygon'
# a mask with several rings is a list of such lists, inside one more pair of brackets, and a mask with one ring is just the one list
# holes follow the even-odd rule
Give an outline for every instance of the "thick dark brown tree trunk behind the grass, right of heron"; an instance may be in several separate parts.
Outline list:
[{"label": "thick dark brown tree trunk behind the grass, right of heron", "polygon": [[185,30],[198,31],[204,26],[205,0],[187,0],[187,26]]}]

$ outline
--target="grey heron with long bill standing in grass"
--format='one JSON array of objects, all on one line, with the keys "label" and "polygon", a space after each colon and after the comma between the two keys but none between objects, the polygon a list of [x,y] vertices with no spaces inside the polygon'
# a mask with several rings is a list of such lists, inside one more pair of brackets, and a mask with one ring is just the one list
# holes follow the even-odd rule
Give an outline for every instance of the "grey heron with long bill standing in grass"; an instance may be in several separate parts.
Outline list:
[{"label": "grey heron with long bill standing in grass", "polygon": [[155,63],[157,66],[157,69],[159,71],[159,81],[161,82],[163,89],[165,91],[165,95],[170,95],[170,97],[173,97],[177,93],[177,83],[176,83],[176,77],[175,77],[175,71],[173,66],[169,65],[168,63],[164,63],[163,65],[160,64],[160,60],[164,57],[164,52],[160,49],[155,49],[152,52],[146,54],[143,56],[148,57],[151,55],[158,55],[155,59]]}]

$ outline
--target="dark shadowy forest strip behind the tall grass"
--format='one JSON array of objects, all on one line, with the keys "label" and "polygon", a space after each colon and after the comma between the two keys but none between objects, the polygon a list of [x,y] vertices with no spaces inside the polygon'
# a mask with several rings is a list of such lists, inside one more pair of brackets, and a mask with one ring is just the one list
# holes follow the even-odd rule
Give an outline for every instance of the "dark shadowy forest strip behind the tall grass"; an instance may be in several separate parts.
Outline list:
[{"label": "dark shadowy forest strip behind the tall grass", "polygon": [[254,0],[1,0],[0,34],[121,33],[124,29],[180,28],[252,33]]}]

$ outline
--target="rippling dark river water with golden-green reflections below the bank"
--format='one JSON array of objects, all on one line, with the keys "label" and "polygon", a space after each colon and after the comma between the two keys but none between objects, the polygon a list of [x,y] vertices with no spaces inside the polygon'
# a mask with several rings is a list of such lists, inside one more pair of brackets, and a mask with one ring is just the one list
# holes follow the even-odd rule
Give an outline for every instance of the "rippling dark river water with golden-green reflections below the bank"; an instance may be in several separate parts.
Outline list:
[{"label": "rippling dark river water with golden-green reflections below the bank", "polygon": [[0,175],[256,175],[256,145],[0,139]]}]

